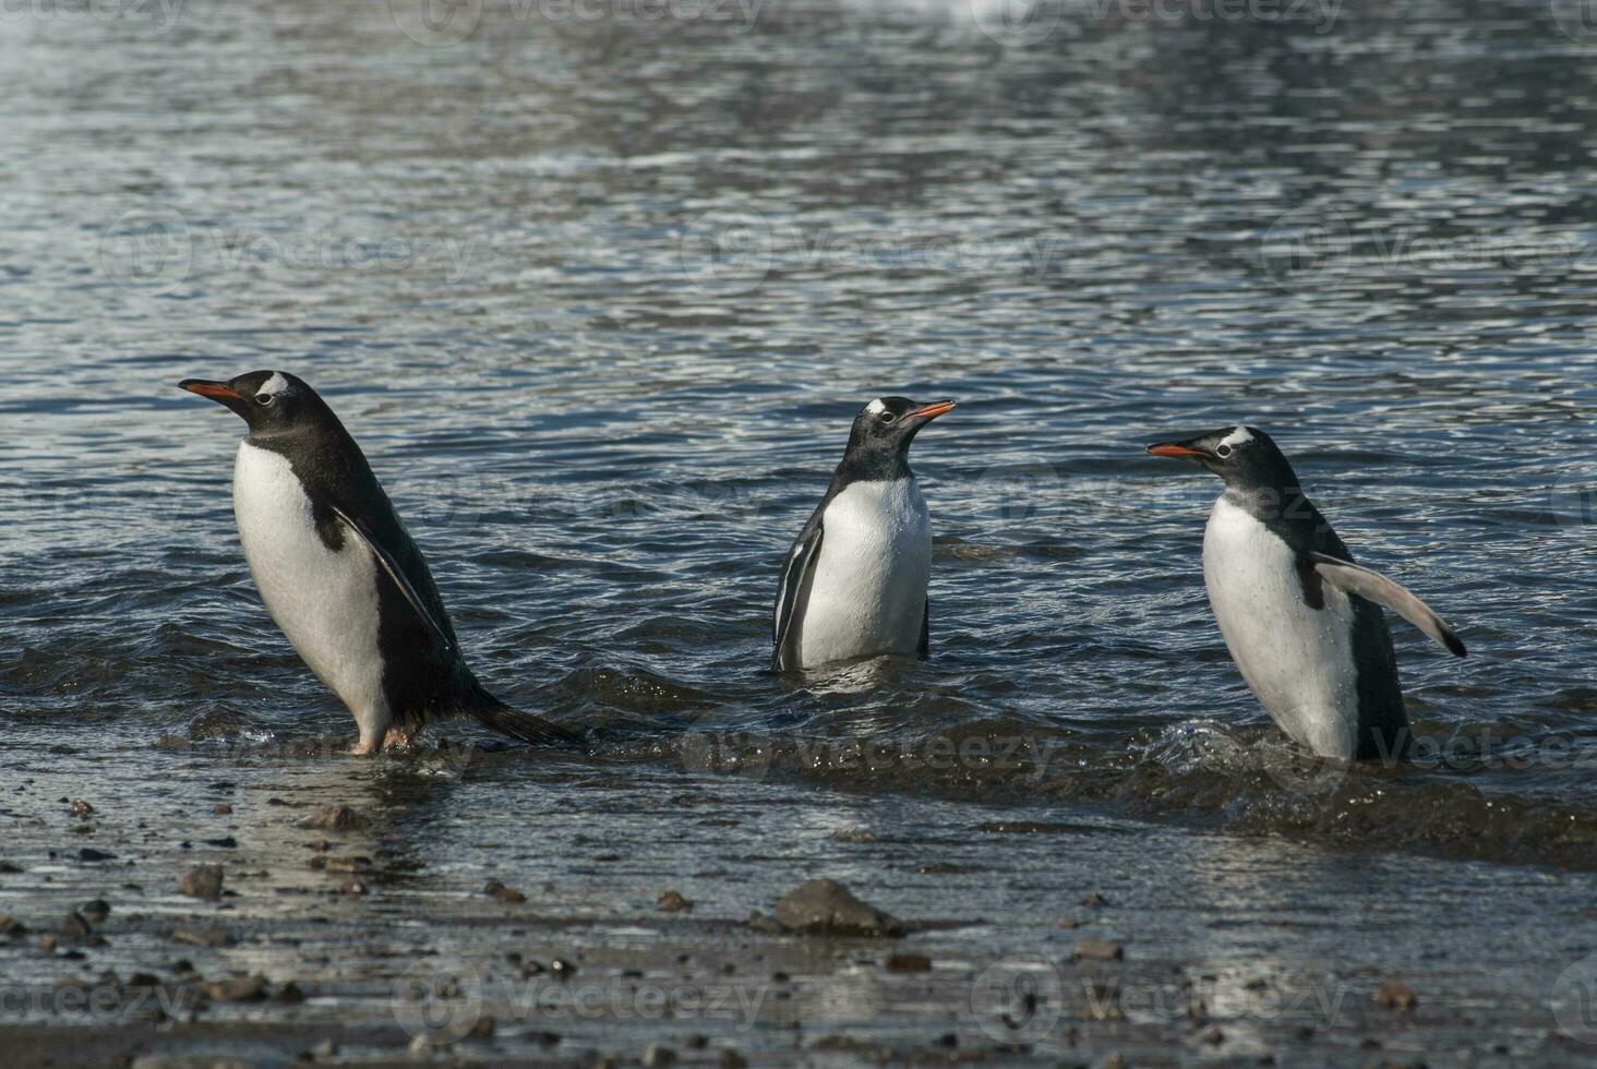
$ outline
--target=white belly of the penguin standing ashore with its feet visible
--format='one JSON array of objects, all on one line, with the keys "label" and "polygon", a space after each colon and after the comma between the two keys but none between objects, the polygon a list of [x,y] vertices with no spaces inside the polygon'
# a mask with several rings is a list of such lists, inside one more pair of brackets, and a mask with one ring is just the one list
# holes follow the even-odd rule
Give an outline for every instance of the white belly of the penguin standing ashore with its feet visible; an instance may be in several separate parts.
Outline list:
[{"label": "white belly of the penguin standing ashore with its feet visible", "polygon": [[248,441],[233,470],[233,511],[267,612],[363,727],[386,722],[371,550],[348,531],[329,550],[287,457]]}]

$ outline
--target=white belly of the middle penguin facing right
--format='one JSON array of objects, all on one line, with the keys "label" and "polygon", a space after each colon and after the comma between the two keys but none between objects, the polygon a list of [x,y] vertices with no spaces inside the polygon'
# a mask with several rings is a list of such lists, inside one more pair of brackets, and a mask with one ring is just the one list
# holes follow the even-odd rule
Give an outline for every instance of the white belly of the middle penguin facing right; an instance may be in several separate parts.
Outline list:
[{"label": "white belly of the middle penguin facing right", "polygon": [[931,575],[931,518],[913,479],[854,483],[822,518],[803,601],[798,663],[913,655]]}]

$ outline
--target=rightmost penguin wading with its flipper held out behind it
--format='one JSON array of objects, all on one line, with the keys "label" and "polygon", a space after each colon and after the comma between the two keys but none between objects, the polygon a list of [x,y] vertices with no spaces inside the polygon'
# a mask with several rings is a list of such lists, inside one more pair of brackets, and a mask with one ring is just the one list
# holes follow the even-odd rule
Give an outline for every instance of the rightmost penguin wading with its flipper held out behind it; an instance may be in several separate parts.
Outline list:
[{"label": "rightmost penguin wading with its flipper held out behind it", "polygon": [[1225,479],[1204,531],[1204,585],[1231,660],[1281,730],[1321,757],[1402,756],[1409,714],[1380,606],[1463,657],[1453,630],[1353,562],[1262,430],[1226,427],[1148,452]]}]

